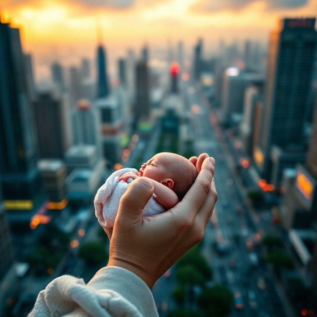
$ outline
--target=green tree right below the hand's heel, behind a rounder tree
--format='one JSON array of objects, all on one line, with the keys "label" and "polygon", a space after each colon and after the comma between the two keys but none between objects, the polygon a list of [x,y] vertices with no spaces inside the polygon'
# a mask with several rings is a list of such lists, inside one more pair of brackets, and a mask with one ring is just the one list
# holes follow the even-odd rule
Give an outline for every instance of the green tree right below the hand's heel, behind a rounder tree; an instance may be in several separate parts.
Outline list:
[{"label": "green tree right below the hand's heel, behind a rounder tree", "polygon": [[194,268],[199,271],[206,280],[212,278],[212,269],[208,265],[204,256],[200,253],[198,246],[194,246],[189,251],[187,251],[177,262],[176,268],[184,265],[191,264]]}]

